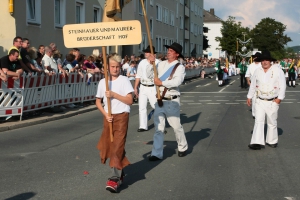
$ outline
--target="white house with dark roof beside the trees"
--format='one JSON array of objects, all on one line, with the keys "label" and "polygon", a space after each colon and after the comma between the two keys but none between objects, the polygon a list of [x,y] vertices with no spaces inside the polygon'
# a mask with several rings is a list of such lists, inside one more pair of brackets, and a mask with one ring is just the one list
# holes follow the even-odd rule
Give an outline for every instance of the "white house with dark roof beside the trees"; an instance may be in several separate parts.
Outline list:
[{"label": "white house with dark roof beside the trees", "polygon": [[216,41],[216,37],[222,37],[221,27],[222,19],[215,15],[215,11],[211,8],[209,11],[203,10],[203,24],[208,28],[208,31],[203,33],[207,36],[208,44],[210,45],[203,54],[208,58],[224,57],[224,52],[221,51],[220,43]]}]

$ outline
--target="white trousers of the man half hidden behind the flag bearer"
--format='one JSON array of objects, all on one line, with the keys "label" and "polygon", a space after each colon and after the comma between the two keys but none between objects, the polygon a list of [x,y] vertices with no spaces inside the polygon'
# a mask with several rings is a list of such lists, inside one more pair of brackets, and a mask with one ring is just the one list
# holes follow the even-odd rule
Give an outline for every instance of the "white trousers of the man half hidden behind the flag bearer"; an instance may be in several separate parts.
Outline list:
[{"label": "white trousers of the man half hidden behind the flag bearer", "polygon": [[148,115],[147,115],[147,105],[148,99],[151,107],[154,109],[154,104],[156,103],[156,89],[153,87],[146,87],[142,84],[140,85],[139,93],[139,120],[140,127],[142,129],[148,130]]}]

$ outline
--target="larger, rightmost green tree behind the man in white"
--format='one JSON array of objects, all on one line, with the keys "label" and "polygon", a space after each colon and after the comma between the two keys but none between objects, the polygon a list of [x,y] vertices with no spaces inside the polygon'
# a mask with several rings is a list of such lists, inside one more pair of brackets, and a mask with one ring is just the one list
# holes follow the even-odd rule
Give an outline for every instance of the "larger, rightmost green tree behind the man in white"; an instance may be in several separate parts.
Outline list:
[{"label": "larger, rightmost green tree behind the man in white", "polygon": [[285,56],[284,46],[292,41],[284,34],[285,30],[286,25],[281,22],[269,17],[262,19],[250,31],[254,48],[258,48],[260,51],[269,50],[274,58],[282,59]]}]

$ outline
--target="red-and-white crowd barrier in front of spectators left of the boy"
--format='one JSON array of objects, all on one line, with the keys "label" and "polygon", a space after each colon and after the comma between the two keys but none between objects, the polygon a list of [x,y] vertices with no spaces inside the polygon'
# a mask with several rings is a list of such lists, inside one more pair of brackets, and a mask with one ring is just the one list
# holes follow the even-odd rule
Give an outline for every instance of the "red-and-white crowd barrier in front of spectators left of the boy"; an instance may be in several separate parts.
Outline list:
[{"label": "red-and-white crowd barrier in front of spectators left of the boy", "polygon": [[7,82],[0,81],[0,117],[22,117],[23,112],[94,100],[100,80],[100,74],[89,79],[78,73],[10,77]]}]

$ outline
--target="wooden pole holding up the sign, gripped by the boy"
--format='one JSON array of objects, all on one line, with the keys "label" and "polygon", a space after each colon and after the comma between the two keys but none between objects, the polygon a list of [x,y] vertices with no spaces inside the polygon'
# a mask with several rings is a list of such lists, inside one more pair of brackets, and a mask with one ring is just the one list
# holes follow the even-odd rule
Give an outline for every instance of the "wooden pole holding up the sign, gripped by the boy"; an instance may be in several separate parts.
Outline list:
[{"label": "wooden pole holding up the sign, gripped by the boy", "polygon": [[[106,57],[106,47],[102,47],[102,54],[103,54],[103,67],[104,67],[104,77],[105,77],[105,87],[106,91],[109,91],[108,87],[108,80],[110,80],[110,75],[108,75],[108,69],[107,69],[107,57]],[[107,112],[108,116],[111,117],[111,101],[110,98],[107,97]],[[114,137],[112,134],[112,122],[109,123],[109,135],[110,135],[110,141],[114,141]]]}]

